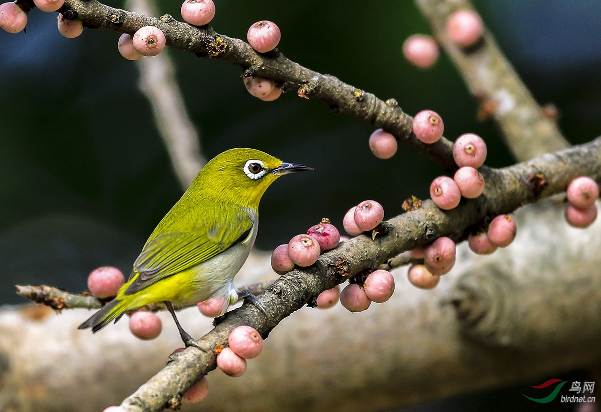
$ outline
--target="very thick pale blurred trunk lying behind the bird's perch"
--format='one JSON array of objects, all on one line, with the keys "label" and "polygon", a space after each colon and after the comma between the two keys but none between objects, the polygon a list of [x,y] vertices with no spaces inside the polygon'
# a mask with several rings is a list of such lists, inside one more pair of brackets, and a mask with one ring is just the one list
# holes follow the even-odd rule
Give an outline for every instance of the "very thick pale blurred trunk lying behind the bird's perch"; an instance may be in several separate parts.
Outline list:
[{"label": "very thick pale blurred trunk lying behind the bird's perch", "polygon": [[[514,218],[510,247],[477,256],[460,244],[453,271],[432,291],[398,269],[385,304],[362,313],[340,305],[297,311],[270,333],[243,377],[210,374],[209,396],[182,410],[392,410],[515,384],[527,389],[599,361],[591,348],[601,345],[601,221],[572,228],[551,200]],[[269,254],[261,254],[237,280],[258,281],[268,269]],[[469,322],[472,312],[480,321]],[[89,315],[0,311],[0,410],[97,412],[132,393],[181,345],[168,313],[159,313],[163,333],[148,342],[123,320],[94,335],[74,332]],[[211,328],[196,309],[178,318],[193,336]]]}]

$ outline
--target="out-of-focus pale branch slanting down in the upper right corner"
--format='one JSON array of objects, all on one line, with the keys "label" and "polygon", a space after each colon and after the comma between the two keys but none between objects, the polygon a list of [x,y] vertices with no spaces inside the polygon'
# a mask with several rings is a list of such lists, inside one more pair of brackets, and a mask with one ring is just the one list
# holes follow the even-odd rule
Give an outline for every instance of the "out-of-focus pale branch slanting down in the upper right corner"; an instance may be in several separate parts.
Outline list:
[{"label": "out-of-focus pale branch slanting down in the upper right corner", "polygon": [[469,91],[480,99],[499,125],[505,143],[518,161],[526,161],[569,146],[554,121],[522,83],[509,61],[485,31],[481,42],[463,49],[447,37],[445,24],[451,13],[473,9],[468,0],[416,0],[439,43],[465,79]]}]

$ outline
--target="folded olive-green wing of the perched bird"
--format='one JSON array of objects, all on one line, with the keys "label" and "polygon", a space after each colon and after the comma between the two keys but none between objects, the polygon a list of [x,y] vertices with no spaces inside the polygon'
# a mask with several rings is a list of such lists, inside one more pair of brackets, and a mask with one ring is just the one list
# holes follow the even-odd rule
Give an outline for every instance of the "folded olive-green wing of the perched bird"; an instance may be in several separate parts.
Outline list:
[{"label": "folded olive-green wing of the perched bird", "polygon": [[237,217],[230,215],[197,229],[164,233],[154,237],[147,242],[133,263],[132,275],[137,272],[138,276],[124,294],[138,292],[243,242],[248,238],[252,224],[251,217],[241,213],[237,214]]}]

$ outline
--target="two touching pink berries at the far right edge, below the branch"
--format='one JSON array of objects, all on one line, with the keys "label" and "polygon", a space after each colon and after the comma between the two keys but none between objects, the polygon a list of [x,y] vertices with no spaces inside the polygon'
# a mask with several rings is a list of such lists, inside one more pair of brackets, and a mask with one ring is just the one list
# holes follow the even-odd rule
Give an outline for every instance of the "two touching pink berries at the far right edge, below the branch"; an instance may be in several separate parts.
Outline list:
[{"label": "two touching pink berries at the far right edge, below the branch", "polygon": [[599,185],[587,176],[572,180],[567,186],[566,220],[574,227],[588,227],[597,218]]}]

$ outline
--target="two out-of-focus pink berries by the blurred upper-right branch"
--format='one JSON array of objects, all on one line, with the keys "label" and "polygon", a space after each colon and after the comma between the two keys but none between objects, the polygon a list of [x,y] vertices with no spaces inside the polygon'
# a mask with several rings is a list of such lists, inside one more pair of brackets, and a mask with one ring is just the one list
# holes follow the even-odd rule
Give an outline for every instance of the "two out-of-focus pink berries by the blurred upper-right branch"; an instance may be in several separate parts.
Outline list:
[{"label": "two out-of-focus pink berries by the blurred upper-right branch", "polygon": [[[484,25],[474,10],[462,9],[448,17],[445,32],[451,42],[469,48],[482,37]],[[438,45],[429,35],[414,34],[403,43],[403,55],[420,69],[429,69],[438,60]]]}]

